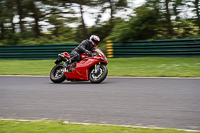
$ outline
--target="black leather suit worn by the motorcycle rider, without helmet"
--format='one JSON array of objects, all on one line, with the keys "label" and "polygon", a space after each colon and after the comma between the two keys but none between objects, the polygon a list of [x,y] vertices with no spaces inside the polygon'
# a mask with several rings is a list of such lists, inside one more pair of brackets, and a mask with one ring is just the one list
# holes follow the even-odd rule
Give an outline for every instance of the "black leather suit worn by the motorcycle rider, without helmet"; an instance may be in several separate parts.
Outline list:
[{"label": "black leather suit worn by the motorcycle rider, without helmet", "polygon": [[83,40],[74,50],[72,50],[70,54],[71,62],[80,61],[82,53],[87,53],[88,51],[92,52],[94,49],[95,47],[88,39]]}]

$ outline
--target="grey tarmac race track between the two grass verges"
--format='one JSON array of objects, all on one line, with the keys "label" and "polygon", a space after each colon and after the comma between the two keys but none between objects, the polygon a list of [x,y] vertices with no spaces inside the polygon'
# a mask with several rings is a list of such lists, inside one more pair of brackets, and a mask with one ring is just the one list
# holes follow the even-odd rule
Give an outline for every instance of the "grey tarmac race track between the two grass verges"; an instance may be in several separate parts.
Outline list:
[{"label": "grey tarmac race track between the two grass verges", "polygon": [[200,130],[199,78],[115,78],[54,84],[0,76],[0,118]]}]

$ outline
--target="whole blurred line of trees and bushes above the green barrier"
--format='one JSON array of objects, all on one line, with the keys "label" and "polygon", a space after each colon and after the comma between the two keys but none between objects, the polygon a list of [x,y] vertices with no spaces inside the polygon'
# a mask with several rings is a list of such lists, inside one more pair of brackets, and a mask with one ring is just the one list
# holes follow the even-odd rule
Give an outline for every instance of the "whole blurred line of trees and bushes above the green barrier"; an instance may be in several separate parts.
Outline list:
[{"label": "whole blurred line of trees and bushes above the green barrier", "polygon": [[[200,37],[199,0],[146,0],[136,8],[133,2],[0,0],[0,45],[80,42],[91,34],[103,41]],[[117,15],[128,10],[126,16]],[[102,21],[105,12],[109,20]],[[93,26],[86,25],[85,13],[95,20]]]}]

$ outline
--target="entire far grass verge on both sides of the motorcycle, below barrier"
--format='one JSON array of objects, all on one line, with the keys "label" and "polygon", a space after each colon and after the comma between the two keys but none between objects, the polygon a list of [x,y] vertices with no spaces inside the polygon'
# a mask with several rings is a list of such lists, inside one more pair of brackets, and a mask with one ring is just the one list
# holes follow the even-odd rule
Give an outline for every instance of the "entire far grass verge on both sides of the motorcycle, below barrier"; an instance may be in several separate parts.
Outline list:
[{"label": "entire far grass verge on both sides of the motorcycle, below barrier", "polygon": [[[49,75],[55,60],[0,60],[1,75]],[[200,58],[108,58],[108,76],[200,77]]]}]

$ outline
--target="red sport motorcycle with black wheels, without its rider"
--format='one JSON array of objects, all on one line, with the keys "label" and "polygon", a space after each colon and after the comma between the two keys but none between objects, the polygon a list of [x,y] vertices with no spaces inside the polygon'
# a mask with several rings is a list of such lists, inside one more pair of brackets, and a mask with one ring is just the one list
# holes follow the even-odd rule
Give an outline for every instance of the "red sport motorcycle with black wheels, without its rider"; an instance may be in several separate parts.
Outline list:
[{"label": "red sport motorcycle with black wheels, without its rider", "polygon": [[54,83],[61,83],[64,80],[69,81],[88,81],[91,83],[101,83],[108,74],[106,65],[108,60],[100,49],[96,49],[93,55],[81,54],[81,61],[74,62],[66,68],[63,61],[70,59],[67,52],[58,55],[50,73],[50,79]]}]

